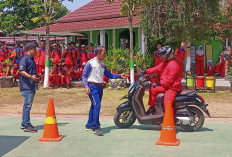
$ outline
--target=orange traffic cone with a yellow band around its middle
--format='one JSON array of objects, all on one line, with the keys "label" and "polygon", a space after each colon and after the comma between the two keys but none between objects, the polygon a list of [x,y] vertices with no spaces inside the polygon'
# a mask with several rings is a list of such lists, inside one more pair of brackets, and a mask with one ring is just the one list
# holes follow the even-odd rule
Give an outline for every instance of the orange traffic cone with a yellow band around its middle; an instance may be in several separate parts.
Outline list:
[{"label": "orange traffic cone with a yellow band around its middle", "polygon": [[39,141],[61,141],[63,136],[59,135],[53,99],[49,100],[46,116],[43,136]]}]

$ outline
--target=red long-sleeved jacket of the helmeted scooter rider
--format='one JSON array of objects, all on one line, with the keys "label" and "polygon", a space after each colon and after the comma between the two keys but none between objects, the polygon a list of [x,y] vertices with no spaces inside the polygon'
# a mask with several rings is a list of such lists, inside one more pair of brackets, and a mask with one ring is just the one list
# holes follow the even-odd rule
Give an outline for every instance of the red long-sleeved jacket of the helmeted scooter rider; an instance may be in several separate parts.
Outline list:
[{"label": "red long-sleeved jacket of the helmeted scooter rider", "polygon": [[158,66],[147,69],[147,74],[160,75],[161,86],[175,91],[182,91],[181,79],[183,71],[175,59],[160,63]]}]

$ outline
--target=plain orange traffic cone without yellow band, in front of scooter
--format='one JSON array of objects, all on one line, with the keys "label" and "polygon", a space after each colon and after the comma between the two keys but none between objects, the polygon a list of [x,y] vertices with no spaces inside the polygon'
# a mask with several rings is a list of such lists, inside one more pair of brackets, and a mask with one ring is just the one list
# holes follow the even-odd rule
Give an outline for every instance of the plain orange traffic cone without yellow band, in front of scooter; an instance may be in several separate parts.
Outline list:
[{"label": "plain orange traffic cone without yellow band, in front of scooter", "polygon": [[168,146],[178,146],[180,144],[180,140],[176,139],[174,113],[170,101],[168,102],[165,109],[163,125],[160,133],[160,139],[156,141],[156,144],[168,145]]}]

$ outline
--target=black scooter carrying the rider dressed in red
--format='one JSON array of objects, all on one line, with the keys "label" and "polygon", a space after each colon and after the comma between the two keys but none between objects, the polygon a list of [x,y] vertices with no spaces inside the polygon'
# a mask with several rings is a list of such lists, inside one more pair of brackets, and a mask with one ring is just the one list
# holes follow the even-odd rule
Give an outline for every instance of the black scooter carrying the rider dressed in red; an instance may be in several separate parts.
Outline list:
[{"label": "black scooter carrying the rider dressed in red", "polygon": [[[164,93],[156,97],[156,113],[146,113],[143,96],[145,90],[151,87],[151,83],[144,76],[140,76],[139,81],[129,87],[128,95],[122,99],[128,101],[117,107],[114,117],[114,123],[119,128],[129,128],[137,119],[140,124],[161,125],[164,117]],[[173,104],[175,114],[175,125],[180,126],[186,131],[197,131],[204,124],[205,112],[210,114],[206,107],[204,99],[196,94],[197,91],[182,91],[179,93]],[[122,100],[121,99],[121,100]]]}]

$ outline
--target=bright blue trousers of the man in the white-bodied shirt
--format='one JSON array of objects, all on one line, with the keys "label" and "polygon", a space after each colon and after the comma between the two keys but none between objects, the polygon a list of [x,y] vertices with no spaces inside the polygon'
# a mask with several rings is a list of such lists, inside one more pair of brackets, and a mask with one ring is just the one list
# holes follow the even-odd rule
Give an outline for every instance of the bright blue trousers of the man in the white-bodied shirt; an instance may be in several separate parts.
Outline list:
[{"label": "bright blue trousers of the man in the white-bodied shirt", "polygon": [[89,110],[89,120],[86,128],[93,127],[93,130],[100,128],[99,115],[101,110],[101,100],[103,95],[103,87],[89,85],[91,106]]}]

